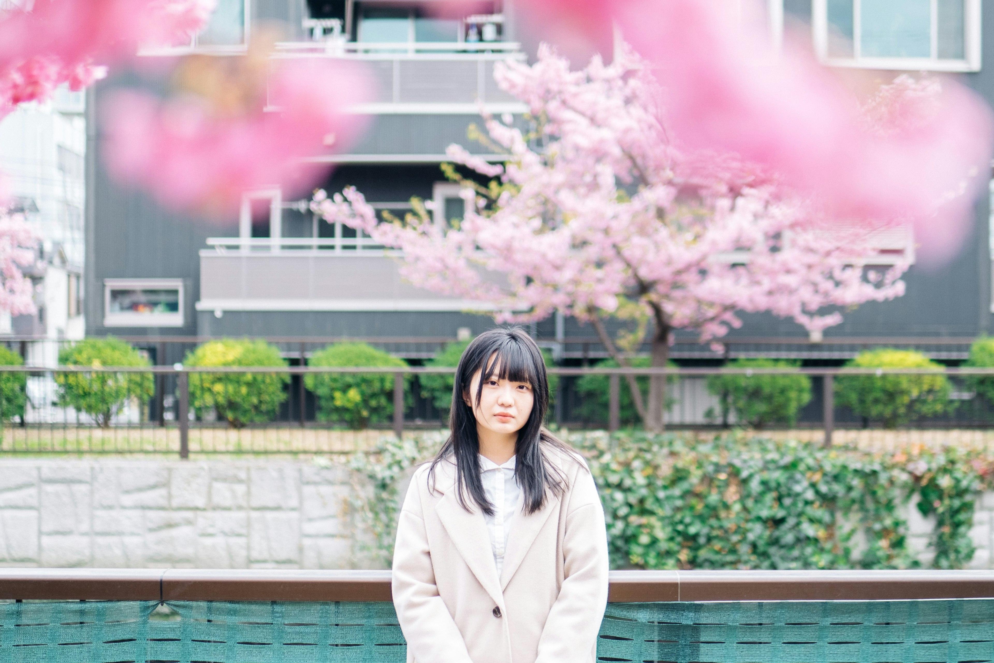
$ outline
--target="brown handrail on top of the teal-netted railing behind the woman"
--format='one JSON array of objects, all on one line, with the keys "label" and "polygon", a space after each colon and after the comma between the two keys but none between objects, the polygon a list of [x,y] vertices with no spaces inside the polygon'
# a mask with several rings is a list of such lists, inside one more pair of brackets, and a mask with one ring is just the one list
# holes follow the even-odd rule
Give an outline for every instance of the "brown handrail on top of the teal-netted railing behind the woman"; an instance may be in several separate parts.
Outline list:
[{"label": "brown handrail on top of the teal-netted railing behind the woman", "polygon": [[[608,600],[994,598],[994,571],[614,571]],[[389,601],[389,571],[0,569],[0,599]]]}]

